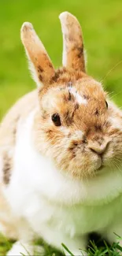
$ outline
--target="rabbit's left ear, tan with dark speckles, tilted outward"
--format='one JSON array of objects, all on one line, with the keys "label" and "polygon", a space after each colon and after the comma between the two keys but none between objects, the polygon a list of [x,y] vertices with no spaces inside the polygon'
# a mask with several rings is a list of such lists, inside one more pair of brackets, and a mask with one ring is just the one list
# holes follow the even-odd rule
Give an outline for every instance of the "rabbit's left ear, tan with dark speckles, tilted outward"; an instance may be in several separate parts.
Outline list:
[{"label": "rabbit's left ear, tan with dark speckles, tilted outward", "polygon": [[50,83],[51,78],[55,74],[54,67],[31,23],[24,22],[20,36],[30,61],[33,79],[39,87],[42,84]]}]

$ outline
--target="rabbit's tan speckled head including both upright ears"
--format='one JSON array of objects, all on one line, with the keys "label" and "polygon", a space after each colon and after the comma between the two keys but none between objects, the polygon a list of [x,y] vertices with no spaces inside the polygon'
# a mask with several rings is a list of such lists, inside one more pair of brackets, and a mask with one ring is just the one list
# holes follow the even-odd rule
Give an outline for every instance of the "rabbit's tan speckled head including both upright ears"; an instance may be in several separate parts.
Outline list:
[{"label": "rabbit's tan speckled head including both upright ears", "polygon": [[83,36],[76,17],[61,13],[63,68],[54,70],[46,50],[29,23],[21,28],[35,82],[39,110],[33,135],[39,152],[57,169],[74,178],[90,178],[115,171],[122,158],[122,115],[87,76]]}]

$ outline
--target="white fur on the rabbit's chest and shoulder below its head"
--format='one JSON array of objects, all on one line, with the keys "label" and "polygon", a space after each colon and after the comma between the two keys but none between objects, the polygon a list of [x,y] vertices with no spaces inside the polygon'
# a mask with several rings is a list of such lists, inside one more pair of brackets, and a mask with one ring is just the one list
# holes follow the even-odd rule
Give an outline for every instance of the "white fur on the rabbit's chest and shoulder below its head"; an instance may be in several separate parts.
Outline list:
[{"label": "white fur on the rabbit's chest and shoulder below its head", "polygon": [[32,145],[33,115],[18,132],[13,176],[6,191],[14,213],[27,218],[48,241],[51,231],[73,237],[103,230],[116,212],[122,212],[122,176],[106,172],[85,183],[58,172]]}]

